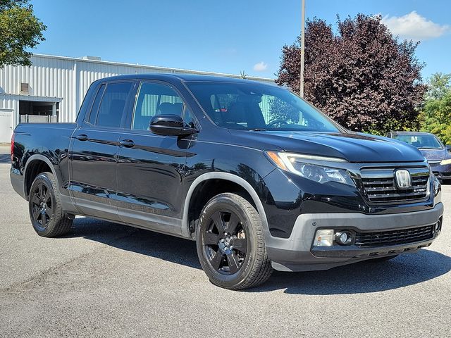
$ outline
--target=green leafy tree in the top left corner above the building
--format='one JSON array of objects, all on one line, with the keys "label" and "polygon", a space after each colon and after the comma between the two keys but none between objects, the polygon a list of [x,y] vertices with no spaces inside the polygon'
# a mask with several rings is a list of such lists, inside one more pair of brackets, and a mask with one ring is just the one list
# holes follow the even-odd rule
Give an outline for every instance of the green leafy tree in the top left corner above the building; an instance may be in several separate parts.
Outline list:
[{"label": "green leafy tree in the top left corner above the building", "polygon": [[46,29],[29,0],[0,0],[0,68],[31,65],[32,53],[27,49],[45,40]]}]

